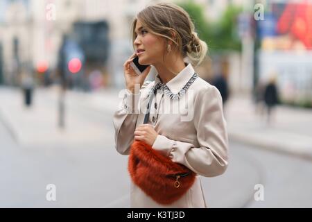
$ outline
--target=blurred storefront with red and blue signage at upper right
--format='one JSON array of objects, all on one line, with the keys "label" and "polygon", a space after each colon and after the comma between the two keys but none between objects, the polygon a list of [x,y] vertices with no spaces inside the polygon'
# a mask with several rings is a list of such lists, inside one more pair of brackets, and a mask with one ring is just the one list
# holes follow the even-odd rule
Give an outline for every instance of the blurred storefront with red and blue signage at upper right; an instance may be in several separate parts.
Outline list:
[{"label": "blurred storefront with red and blue signage at upper right", "polygon": [[281,102],[312,107],[312,2],[273,1],[268,8],[258,22],[258,82],[276,78]]}]

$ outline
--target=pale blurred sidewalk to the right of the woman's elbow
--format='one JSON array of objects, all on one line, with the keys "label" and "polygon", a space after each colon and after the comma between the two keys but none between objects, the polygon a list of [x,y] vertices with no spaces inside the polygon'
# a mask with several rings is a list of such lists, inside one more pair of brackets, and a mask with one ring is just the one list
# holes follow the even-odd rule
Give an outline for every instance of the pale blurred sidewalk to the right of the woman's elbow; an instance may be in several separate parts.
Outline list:
[{"label": "pale blurred sidewalk to the right of the woman's elbow", "polygon": [[250,98],[235,96],[228,101],[229,139],[312,160],[312,110],[279,105],[268,124]]}]

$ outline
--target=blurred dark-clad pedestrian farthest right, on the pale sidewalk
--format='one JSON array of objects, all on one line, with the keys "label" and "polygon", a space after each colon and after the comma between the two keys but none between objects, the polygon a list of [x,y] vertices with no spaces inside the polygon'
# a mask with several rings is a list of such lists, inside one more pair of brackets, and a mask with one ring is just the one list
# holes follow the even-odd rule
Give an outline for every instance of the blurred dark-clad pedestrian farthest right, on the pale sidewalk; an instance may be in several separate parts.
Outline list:
[{"label": "blurred dark-clad pedestrian farthest right, on the pale sidewalk", "polygon": [[266,103],[267,110],[267,123],[270,123],[272,120],[272,113],[274,112],[275,105],[279,103],[278,89],[276,85],[276,77],[272,76],[269,83],[264,89],[264,102]]}]

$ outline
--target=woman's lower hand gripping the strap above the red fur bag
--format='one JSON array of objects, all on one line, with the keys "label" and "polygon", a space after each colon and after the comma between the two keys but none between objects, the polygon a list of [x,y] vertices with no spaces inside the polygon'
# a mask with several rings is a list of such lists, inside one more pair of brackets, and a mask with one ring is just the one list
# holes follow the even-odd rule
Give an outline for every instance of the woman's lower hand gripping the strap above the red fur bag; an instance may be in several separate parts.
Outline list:
[{"label": "woman's lower hand gripping the strap above the red fur bag", "polygon": [[153,146],[158,133],[150,124],[141,124],[135,129],[135,139]]}]

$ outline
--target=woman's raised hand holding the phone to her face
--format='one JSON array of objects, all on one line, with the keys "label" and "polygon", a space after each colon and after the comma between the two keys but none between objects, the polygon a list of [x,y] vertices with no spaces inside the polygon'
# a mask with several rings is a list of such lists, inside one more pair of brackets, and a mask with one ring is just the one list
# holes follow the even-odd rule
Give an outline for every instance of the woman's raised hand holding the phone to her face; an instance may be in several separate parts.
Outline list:
[{"label": "woman's raised hand holding the phone to her face", "polygon": [[132,94],[138,93],[138,92],[135,92],[136,84],[138,84],[139,89],[141,89],[141,85],[143,85],[144,80],[146,76],[148,75],[150,68],[151,68],[149,66],[147,69],[144,70],[142,74],[138,75],[130,65],[130,63],[136,56],[137,56],[136,53],[132,54],[132,56],[130,56],[130,58],[127,61],[125,61],[125,63],[123,64],[123,71],[125,73],[125,87],[130,92],[132,92]]}]

